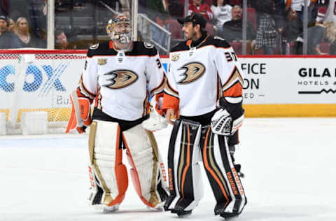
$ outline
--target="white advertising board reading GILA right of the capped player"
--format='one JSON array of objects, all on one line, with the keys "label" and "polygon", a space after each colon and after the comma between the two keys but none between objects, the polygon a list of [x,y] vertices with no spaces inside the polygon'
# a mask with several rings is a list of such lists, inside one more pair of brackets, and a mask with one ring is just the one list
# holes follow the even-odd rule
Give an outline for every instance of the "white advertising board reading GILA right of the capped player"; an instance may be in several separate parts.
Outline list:
[{"label": "white advertising board reading GILA right of the capped player", "polygon": [[[335,104],[335,58],[240,58],[244,104]],[[162,59],[167,63],[168,59]]]}]

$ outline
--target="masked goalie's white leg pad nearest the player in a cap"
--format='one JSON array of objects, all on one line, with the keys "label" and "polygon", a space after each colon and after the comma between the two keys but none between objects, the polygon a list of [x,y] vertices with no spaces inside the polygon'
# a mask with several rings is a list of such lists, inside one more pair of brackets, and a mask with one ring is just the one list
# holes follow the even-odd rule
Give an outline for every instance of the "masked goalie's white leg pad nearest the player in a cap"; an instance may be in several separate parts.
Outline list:
[{"label": "masked goalie's white leg pad nearest the player in a cap", "polygon": [[155,151],[159,154],[158,149],[153,149],[151,140],[141,124],[124,131],[123,141],[132,166],[132,182],[141,201],[152,208],[162,204],[167,198],[167,189],[160,173],[162,165],[158,161],[158,155],[155,155]]}]

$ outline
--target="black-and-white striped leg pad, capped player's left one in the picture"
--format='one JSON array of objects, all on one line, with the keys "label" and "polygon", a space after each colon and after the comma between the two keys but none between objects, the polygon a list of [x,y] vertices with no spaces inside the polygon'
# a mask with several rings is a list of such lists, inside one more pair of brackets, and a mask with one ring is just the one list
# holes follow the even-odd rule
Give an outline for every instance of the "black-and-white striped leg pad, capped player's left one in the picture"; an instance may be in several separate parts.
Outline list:
[{"label": "black-and-white striped leg pad, capped player's left one in the picture", "polygon": [[165,210],[183,213],[193,210],[203,195],[200,171],[201,124],[176,120],[169,141],[168,173],[170,197]]}]

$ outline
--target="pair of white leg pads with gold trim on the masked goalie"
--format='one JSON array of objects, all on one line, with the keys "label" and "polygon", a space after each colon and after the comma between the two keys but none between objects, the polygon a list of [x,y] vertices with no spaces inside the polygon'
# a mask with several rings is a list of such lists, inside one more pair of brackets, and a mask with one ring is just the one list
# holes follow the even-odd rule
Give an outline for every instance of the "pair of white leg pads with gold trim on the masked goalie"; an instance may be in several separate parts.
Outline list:
[{"label": "pair of white leg pads with gold trim on the masked goalie", "polygon": [[94,120],[90,129],[90,204],[115,206],[125,198],[128,177],[122,143],[140,199],[150,207],[160,205],[167,198],[167,178],[153,134],[141,124],[120,134],[118,123],[101,120]]}]

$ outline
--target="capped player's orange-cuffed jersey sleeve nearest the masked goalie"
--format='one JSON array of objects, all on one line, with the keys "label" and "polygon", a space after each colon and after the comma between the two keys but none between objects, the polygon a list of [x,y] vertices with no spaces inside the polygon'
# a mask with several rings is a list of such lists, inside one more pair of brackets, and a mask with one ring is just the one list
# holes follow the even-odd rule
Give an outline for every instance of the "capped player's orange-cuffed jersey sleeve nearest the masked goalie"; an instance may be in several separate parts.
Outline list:
[{"label": "capped player's orange-cuffed jersey sleeve nearest the masked goalie", "polygon": [[169,55],[169,66],[167,73],[167,83],[165,85],[165,95],[163,97],[162,110],[165,111],[169,108],[173,108],[175,112],[179,110],[179,92],[177,90],[176,80],[170,68],[171,56]]}]

